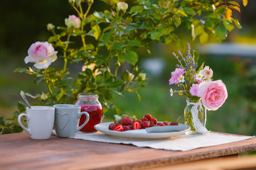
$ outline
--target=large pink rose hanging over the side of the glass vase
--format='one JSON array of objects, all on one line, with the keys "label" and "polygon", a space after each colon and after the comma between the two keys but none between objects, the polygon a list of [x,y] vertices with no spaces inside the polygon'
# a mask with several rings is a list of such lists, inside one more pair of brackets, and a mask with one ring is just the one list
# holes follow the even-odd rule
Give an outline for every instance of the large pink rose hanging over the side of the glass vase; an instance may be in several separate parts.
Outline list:
[{"label": "large pink rose hanging over the side of the glass vase", "polygon": [[208,111],[216,111],[228,98],[228,91],[223,81],[203,81],[199,84],[198,96]]}]

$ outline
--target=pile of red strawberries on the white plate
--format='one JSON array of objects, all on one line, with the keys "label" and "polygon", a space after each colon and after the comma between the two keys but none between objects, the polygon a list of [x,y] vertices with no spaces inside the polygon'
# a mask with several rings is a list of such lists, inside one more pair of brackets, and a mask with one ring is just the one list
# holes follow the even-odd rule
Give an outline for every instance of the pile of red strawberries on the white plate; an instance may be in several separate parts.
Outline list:
[{"label": "pile of red strawberries on the white plate", "polygon": [[164,123],[158,123],[156,118],[153,118],[151,115],[146,114],[144,118],[137,120],[135,116],[129,118],[128,115],[122,115],[122,118],[115,120],[114,123],[111,123],[109,130],[115,131],[126,131],[126,130],[139,130],[144,128],[149,128],[153,126],[164,126],[164,125],[178,125],[178,123],[169,121],[164,121]]}]

